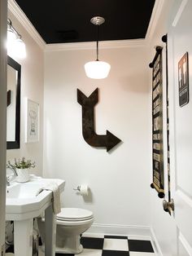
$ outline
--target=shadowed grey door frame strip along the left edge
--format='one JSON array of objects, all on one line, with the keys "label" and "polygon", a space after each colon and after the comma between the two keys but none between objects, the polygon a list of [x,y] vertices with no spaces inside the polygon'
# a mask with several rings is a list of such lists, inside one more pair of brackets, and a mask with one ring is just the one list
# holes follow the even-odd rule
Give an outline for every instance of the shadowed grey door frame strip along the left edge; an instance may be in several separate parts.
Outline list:
[{"label": "shadowed grey door frame strip along the left edge", "polygon": [[7,0],[0,0],[0,254],[5,253],[7,157]]}]

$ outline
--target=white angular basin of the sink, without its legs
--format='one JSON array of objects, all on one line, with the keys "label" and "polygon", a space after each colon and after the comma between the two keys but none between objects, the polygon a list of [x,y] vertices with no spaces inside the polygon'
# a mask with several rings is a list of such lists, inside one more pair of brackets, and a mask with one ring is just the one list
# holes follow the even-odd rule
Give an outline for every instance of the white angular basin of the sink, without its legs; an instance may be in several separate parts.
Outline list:
[{"label": "white angular basin of the sink, without its legs", "polygon": [[63,192],[65,182],[61,179],[33,178],[27,183],[12,182],[7,187],[6,220],[24,220],[39,216],[50,204],[52,192],[42,190],[55,182]]}]

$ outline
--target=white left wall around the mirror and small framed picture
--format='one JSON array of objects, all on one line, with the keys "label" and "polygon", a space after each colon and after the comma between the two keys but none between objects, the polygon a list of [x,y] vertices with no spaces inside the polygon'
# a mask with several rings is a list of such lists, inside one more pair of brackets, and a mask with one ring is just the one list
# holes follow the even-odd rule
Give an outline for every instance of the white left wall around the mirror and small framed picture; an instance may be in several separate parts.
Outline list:
[{"label": "white left wall around the mirror and small framed picture", "polygon": [[[42,172],[42,148],[43,148],[43,82],[44,82],[44,51],[28,33],[27,29],[8,12],[14,28],[22,35],[26,44],[27,57],[24,60],[15,59],[21,64],[21,107],[20,107],[20,149],[7,150],[7,160],[26,157],[36,162],[35,169],[31,173]],[[37,143],[24,143],[25,141],[25,97],[32,99],[40,105],[40,139]]]}]

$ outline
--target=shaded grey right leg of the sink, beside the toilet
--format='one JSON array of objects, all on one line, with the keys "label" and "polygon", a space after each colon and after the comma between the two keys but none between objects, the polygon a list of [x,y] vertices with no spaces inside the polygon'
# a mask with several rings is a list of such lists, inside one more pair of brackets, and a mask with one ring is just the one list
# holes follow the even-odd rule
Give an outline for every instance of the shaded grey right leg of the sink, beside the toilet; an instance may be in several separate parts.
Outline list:
[{"label": "shaded grey right leg of the sink, beside the toilet", "polygon": [[45,255],[55,256],[56,215],[53,213],[52,205],[47,207],[45,211],[45,229]]}]

